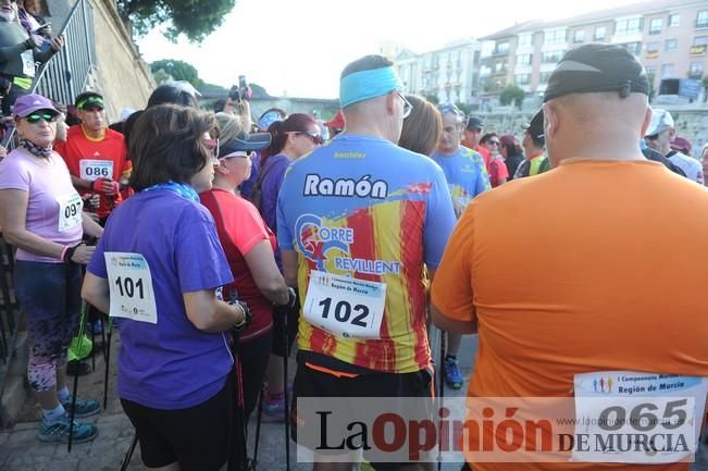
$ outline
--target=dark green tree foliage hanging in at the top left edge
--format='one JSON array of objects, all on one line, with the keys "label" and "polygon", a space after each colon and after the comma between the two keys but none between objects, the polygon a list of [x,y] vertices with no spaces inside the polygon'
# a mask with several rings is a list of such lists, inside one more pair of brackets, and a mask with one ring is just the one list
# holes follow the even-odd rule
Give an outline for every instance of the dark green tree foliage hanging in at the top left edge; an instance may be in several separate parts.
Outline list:
[{"label": "dark green tree foliage hanging in at the top left edge", "polygon": [[175,41],[182,34],[190,42],[201,42],[224,23],[236,0],[117,0],[119,12],[137,36],[169,23],[165,37]]}]

